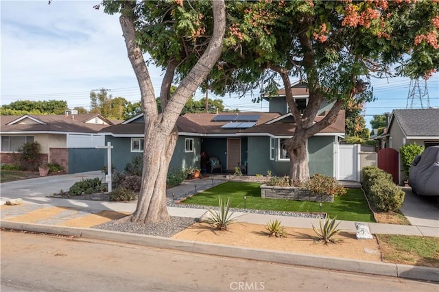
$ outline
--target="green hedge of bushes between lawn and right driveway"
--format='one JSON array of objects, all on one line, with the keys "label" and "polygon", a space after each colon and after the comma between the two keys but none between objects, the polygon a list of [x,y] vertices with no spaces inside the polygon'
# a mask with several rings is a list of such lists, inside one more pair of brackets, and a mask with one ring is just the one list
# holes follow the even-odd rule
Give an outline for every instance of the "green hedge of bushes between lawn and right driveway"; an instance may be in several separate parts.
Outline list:
[{"label": "green hedge of bushes between lawn and right driveway", "polygon": [[405,193],[393,183],[392,175],[377,167],[364,167],[363,187],[381,211],[397,211],[404,202]]}]

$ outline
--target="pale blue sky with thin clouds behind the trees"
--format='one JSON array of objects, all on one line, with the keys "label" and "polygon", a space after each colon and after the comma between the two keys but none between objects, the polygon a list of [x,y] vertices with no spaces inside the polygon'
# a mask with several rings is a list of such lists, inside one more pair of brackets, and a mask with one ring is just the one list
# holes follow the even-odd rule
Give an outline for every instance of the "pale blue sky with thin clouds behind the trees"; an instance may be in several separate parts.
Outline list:
[{"label": "pale blue sky with thin clouds behind the trees", "polygon": [[[140,91],[127,57],[117,15],[93,9],[100,1],[3,1],[1,13],[1,105],[18,100],[65,100],[69,108],[90,107],[91,90],[106,88],[112,97],[140,101]],[[145,56],[147,58],[147,56]],[[162,71],[148,67],[158,97]],[[293,82],[296,80],[292,80]],[[410,79],[371,80],[376,101],[366,104],[364,117],[370,128],[375,114],[407,108]],[[414,83],[414,82],[413,82]],[[439,74],[427,84],[429,106],[439,108]],[[421,108],[418,91],[408,108]],[[222,98],[229,109],[268,111],[268,101],[253,104],[259,92],[245,97]],[[204,94],[197,90],[194,99]],[[427,97],[422,99],[427,107]]]}]

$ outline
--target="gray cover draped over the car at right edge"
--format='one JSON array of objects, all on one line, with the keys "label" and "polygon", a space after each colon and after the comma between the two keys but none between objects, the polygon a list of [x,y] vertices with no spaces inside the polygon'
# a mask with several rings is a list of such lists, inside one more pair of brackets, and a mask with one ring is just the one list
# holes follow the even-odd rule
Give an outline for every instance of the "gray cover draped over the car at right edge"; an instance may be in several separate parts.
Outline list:
[{"label": "gray cover draped over the car at right edge", "polygon": [[418,195],[439,195],[439,146],[431,146],[416,156],[409,184]]}]

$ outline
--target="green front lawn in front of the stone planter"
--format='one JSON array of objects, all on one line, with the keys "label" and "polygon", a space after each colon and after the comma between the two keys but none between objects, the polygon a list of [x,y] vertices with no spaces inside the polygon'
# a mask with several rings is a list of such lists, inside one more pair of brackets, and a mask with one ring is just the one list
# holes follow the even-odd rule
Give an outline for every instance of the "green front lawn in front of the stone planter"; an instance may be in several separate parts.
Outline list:
[{"label": "green front lawn in front of the stone planter", "polygon": [[[218,197],[224,199],[230,197],[232,208],[244,208],[244,196],[246,196],[245,207],[248,209],[319,212],[318,202],[263,199],[260,185],[255,182],[225,182],[189,197],[182,203],[218,206]],[[346,195],[335,197],[333,203],[322,203],[321,211],[326,212],[331,218],[337,216],[339,220],[375,222],[363,191],[359,188],[348,188]]]}]

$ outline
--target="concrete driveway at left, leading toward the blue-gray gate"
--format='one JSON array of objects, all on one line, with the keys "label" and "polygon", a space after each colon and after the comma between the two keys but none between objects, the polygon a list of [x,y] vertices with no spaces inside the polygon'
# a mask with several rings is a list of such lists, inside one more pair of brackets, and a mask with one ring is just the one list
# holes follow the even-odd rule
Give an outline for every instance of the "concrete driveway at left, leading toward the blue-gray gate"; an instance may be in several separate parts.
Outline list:
[{"label": "concrete driveway at left, leading toward the blue-gray gate", "polygon": [[0,202],[4,204],[6,200],[16,198],[21,198],[24,201],[26,199],[34,201],[37,197],[60,193],[61,190],[69,191],[69,188],[75,182],[86,178],[101,178],[104,180],[105,174],[102,171],[89,171],[65,175],[48,175],[29,180],[16,180],[14,182],[2,182],[0,184]]}]

